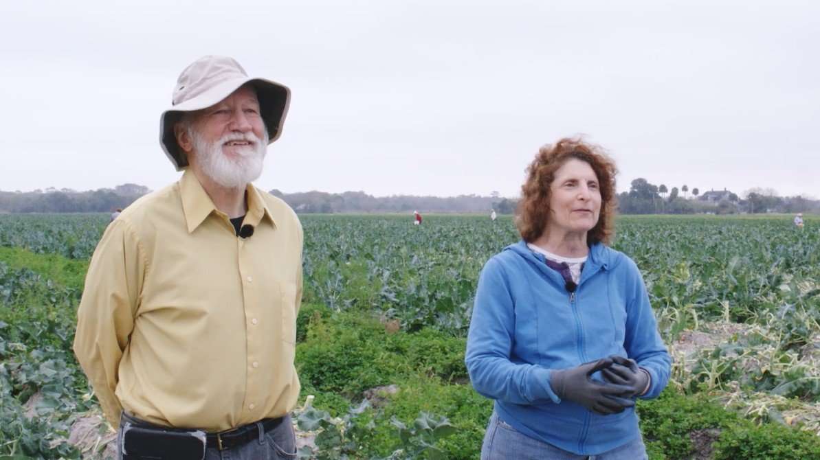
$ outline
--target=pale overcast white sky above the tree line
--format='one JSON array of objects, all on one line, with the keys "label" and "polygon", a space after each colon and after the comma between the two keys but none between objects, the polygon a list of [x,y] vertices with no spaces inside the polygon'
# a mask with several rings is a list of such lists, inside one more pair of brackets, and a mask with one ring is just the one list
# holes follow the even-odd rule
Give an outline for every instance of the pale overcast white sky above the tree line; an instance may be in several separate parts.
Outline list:
[{"label": "pale overcast white sky above the tree line", "polygon": [[584,133],[621,174],[820,196],[820,2],[2,2],[0,190],[178,177],[158,142],[205,54],[285,83],[257,185],[516,196]]}]

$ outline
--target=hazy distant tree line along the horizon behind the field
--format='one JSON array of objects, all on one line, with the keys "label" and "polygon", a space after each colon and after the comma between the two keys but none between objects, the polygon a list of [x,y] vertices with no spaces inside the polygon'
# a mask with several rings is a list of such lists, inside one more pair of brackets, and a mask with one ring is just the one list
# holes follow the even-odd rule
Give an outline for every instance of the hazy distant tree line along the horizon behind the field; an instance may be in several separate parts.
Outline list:
[{"label": "hazy distant tree line along the horizon behind the field", "polygon": [[[125,183],[114,188],[76,192],[71,189],[47,188],[34,192],[0,192],[0,212],[71,213],[112,212],[125,208],[150,192],[148,187]],[[689,197],[691,192],[691,198]],[[681,196],[681,193],[683,196]],[[372,196],[365,192],[298,192],[271,194],[283,199],[299,214],[309,213],[490,213],[514,214],[517,200],[504,198],[499,192],[490,196]],[[743,197],[727,190],[701,193],[686,184],[668,189],[636,178],[629,192],[617,196],[620,214],[760,214],[820,213],[820,201],[804,196],[777,196],[771,188],[753,188]]]}]

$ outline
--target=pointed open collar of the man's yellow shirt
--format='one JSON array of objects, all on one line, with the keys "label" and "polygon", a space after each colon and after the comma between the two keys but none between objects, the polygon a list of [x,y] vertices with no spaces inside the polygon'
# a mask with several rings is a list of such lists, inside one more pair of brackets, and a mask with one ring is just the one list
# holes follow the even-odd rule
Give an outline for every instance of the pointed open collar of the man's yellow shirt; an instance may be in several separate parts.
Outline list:
[{"label": "pointed open collar of the man's yellow shirt", "polygon": [[[188,224],[188,232],[194,232],[207,216],[216,211],[211,197],[207,195],[202,184],[199,183],[196,174],[190,169],[185,169],[185,174],[180,178],[180,195],[182,196],[182,210],[185,213],[185,221]],[[245,196],[248,200],[248,212],[245,214],[244,223],[256,227],[263,219],[276,227],[273,214],[267,203],[259,194],[252,183],[248,183],[245,189]]]}]

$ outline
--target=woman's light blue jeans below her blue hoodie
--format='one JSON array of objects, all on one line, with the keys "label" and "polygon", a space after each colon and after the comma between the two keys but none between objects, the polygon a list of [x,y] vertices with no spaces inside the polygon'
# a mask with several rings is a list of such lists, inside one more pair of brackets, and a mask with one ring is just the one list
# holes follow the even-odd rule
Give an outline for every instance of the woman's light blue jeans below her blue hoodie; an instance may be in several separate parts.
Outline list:
[{"label": "woman's light blue jeans below her blue hoodie", "polygon": [[558,449],[552,444],[534,440],[504,423],[496,413],[481,445],[481,460],[648,460],[644,441],[631,440],[598,455],[578,455]]}]

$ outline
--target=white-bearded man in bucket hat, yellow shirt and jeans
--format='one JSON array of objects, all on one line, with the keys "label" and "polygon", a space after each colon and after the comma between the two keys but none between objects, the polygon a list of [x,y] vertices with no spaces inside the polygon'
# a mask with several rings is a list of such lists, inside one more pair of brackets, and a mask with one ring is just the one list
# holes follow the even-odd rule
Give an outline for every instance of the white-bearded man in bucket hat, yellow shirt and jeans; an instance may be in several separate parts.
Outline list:
[{"label": "white-bearded man in bucket hat, yellow shirt and jeans", "polygon": [[120,428],[119,458],[296,458],[303,233],[252,184],[289,97],[230,57],[187,66],[160,118],[184,173],[128,206],[94,251],[74,350]]}]

